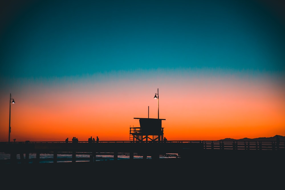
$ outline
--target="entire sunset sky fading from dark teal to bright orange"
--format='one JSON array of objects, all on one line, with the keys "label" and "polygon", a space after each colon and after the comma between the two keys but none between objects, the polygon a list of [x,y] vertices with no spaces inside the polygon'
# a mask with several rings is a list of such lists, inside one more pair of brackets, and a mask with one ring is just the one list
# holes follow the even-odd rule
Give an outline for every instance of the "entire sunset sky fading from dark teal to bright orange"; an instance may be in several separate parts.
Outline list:
[{"label": "entire sunset sky fading from dark teal to bright orange", "polygon": [[[0,141],[285,136],[279,1],[0,3]],[[159,91],[158,91],[159,90]]]}]

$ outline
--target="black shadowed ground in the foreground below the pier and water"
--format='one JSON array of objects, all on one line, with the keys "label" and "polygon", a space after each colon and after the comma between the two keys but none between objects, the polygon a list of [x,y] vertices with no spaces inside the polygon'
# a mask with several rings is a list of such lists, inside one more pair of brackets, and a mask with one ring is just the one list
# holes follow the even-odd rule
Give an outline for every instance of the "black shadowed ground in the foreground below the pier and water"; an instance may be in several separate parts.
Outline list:
[{"label": "black shadowed ground in the foreground below the pier and water", "polygon": [[284,153],[212,152],[188,158],[1,164],[3,186],[30,189],[272,189],[284,187]]}]

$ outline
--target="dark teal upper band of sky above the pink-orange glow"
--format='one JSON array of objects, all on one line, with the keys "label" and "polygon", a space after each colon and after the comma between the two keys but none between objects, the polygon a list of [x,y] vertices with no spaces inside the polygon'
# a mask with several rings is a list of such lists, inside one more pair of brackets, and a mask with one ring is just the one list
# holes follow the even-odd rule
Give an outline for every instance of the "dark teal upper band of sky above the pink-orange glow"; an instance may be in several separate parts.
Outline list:
[{"label": "dark teal upper band of sky above the pink-orange glow", "polygon": [[5,78],[285,69],[285,20],[275,1],[12,2],[1,3]]}]

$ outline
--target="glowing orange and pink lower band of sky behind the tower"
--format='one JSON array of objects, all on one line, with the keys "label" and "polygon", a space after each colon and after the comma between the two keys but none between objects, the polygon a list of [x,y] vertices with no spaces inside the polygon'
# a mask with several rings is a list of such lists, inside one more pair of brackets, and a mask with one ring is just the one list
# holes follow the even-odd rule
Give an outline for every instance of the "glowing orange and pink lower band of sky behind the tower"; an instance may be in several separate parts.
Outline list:
[{"label": "glowing orange and pink lower band of sky behind the tower", "polygon": [[[285,136],[285,90],[279,78],[209,73],[18,80],[13,85],[20,87],[12,85],[11,92],[16,103],[11,104],[10,139],[129,140],[130,126],[139,126],[133,118],[147,118],[148,106],[149,118],[157,118],[157,88],[168,140]],[[9,95],[1,92],[0,141],[8,141]]]}]

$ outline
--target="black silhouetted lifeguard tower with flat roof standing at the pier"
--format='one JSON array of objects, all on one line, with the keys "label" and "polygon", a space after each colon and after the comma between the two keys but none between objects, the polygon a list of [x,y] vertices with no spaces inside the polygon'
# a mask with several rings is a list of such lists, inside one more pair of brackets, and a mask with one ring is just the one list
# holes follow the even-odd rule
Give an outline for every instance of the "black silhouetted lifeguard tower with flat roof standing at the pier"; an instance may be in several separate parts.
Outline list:
[{"label": "black silhouetted lifeguard tower with flat roof standing at the pier", "polygon": [[140,120],[140,127],[130,127],[130,141],[163,141],[163,127],[161,121],[165,119],[137,118]]}]

